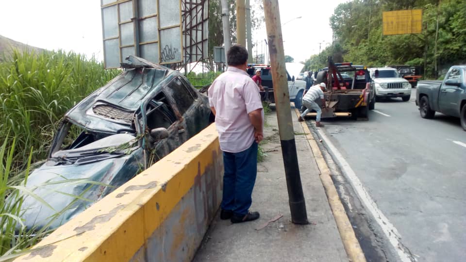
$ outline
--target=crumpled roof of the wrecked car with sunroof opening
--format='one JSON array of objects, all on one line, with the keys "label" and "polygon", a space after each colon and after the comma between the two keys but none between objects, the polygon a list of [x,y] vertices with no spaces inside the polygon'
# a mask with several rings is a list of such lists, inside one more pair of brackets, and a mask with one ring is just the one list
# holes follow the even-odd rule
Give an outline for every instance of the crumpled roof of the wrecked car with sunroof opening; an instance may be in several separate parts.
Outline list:
[{"label": "crumpled roof of the wrecked car with sunroof opening", "polygon": [[127,128],[134,112],[164,87],[164,80],[181,75],[139,57],[129,56],[127,60],[121,65],[126,69],[123,73],[71,108],[65,118],[89,130],[113,132]]}]

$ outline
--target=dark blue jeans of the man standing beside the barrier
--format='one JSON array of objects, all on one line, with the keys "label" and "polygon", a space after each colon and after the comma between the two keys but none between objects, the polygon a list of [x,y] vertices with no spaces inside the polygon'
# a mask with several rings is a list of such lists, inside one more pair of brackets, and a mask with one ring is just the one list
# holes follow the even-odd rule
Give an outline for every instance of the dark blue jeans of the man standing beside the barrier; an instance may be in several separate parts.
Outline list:
[{"label": "dark blue jeans of the man standing beside the barrier", "polygon": [[221,208],[235,215],[248,213],[252,203],[252,188],[257,175],[257,143],[241,152],[223,152],[223,198]]}]

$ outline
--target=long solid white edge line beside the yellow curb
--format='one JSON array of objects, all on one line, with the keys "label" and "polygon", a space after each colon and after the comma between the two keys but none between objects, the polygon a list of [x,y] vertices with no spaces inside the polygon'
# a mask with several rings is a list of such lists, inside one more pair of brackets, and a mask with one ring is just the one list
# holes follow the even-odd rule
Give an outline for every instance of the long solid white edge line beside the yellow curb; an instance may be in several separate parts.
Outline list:
[{"label": "long solid white edge line beside the yellow curb", "polygon": [[[375,112],[375,110],[373,111]],[[400,260],[402,262],[416,261],[416,259],[411,255],[410,251],[406,247],[404,247],[403,244],[401,244],[400,242],[401,235],[399,234],[398,230],[395,228],[395,226],[393,226],[393,224],[388,220],[388,218],[382,213],[382,211],[379,209],[379,207],[374,202],[372,197],[370,197],[369,193],[366,191],[363,184],[361,183],[359,178],[356,176],[356,173],[353,171],[350,164],[346,162],[343,155],[338,151],[338,149],[336,149],[335,146],[333,146],[332,142],[327,137],[327,135],[325,135],[323,131],[321,131],[320,129],[317,129],[317,132],[319,133],[320,137],[322,137],[322,139],[325,141],[325,143],[329,147],[331,153],[333,154],[335,161],[337,162],[337,164],[339,164],[343,173],[346,175],[348,180],[350,180],[351,185],[353,186],[354,190],[359,196],[359,199],[361,199],[361,201],[364,203],[364,205],[366,206],[366,209],[372,214],[374,219],[377,221],[379,226],[382,228],[383,233],[385,233],[385,236],[390,241],[390,244],[392,244],[392,246],[397,251]]]}]

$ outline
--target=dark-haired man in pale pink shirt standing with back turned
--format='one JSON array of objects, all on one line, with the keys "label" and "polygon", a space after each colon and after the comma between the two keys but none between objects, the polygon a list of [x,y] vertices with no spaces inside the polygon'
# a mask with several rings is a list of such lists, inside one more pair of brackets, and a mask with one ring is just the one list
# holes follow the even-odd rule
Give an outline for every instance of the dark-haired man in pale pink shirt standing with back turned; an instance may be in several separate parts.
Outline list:
[{"label": "dark-haired man in pale pink shirt standing with back turned", "polygon": [[257,174],[257,146],[264,137],[264,112],[259,89],[246,73],[248,50],[232,46],[227,62],[227,71],[209,88],[209,103],[223,151],[220,218],[240,223],[259,218],[259,213],[249,208]]}]

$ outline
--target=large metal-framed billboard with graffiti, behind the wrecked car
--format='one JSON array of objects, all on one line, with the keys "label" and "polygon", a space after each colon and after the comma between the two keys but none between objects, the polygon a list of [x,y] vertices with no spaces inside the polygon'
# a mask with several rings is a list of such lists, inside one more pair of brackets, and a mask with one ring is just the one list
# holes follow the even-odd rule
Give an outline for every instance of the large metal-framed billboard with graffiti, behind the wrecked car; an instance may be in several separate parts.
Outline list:
[{"label": "large metal-framed billboard with graffiti, behind the wrecked car", "polygon": [[105,68],[119,68],[129,55],[161,65],[207,57],[208,0],[100,0],[100,5]]}]

